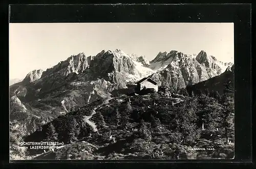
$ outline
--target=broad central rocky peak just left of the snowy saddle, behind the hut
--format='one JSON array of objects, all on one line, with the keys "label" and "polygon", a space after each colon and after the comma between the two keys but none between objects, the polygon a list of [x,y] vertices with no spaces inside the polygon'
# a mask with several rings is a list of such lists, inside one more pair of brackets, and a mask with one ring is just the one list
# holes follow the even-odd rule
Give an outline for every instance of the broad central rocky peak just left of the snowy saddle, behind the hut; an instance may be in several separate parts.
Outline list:
[{"label": "broad central rocky peak just left of the snowy saddle, behind the hut", "polygon": [[[140,60],[141,59],[141,60]],[[90,64],[90,71],[97,78],[116,83],[118,88],[126,87],[126,82],[136,81],[153,71],[143,67],[143,57],[128,55],[121,50],[101,52],[95,56]]]}]

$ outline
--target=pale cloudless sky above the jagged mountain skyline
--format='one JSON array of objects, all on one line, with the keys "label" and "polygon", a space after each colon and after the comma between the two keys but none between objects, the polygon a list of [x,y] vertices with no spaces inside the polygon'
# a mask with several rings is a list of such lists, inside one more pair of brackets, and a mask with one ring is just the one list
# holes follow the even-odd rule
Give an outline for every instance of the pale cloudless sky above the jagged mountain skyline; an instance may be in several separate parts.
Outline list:
[{"label": "pale cloudless sky above the jagged mountain skyline", "polygon": [[23,79],[71,55],[120,49],[153,60],[159,52],[201,50],[233,62],[233,23],[10,23],[9,76]]}]

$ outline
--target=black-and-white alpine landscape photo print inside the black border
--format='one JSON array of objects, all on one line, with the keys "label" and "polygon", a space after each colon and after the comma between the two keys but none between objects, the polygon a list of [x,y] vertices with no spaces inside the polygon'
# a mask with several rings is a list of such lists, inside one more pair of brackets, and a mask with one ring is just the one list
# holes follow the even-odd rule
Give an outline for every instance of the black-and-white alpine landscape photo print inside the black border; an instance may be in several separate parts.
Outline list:
[{"label": "black-and-white alpine landscape photo print inside the black border", "polygon": [[10,160],[234,159],[233,23],[10,23]]}]

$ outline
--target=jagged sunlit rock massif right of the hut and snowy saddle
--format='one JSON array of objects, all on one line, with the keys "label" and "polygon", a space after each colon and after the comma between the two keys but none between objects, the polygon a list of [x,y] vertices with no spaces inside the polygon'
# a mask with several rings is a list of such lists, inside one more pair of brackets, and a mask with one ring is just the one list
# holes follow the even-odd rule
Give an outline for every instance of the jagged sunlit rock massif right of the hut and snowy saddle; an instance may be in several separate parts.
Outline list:
[{"label": "jagged sunlit rock massif right of the hut and snowy saddle", "polygon": [[160,52],[148,68],[157,71],[151,77],[160,85],[177,89],[220,75],[228,66],[232,66],[232,63],[218,61],[214,56],[207,56],[205,51],[196,57],[170,51]]}]

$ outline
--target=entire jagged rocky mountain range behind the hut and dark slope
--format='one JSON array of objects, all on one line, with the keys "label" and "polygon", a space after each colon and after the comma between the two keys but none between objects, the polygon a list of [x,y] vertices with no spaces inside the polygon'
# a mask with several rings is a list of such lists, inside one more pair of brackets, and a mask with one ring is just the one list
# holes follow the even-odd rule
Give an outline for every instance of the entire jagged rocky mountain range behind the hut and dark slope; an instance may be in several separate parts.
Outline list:
[{"label": "entire jagged rocky mountain range behind the hut and dark slope", "polygon": [[[46,71],[33,70],[10,86],[10,120],[20,121],[26,133],[60,115],[74,111],[115,90],[151,77],[159,86],[186,88],[221,75],[231,69],[205,51],[187,55],[172,50],[159,52],[151,61],[122,50],[102,50],[95,56],[72,55]],[[26,122],[25,122],[26,121]]]}]

